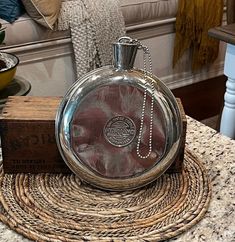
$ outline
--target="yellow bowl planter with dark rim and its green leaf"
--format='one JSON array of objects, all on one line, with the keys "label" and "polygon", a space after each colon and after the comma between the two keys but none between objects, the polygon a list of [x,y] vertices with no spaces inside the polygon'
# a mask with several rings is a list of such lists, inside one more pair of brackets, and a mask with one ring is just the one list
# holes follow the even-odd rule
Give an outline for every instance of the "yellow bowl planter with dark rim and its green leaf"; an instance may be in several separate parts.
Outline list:
[{"label": "yellow bowl planter with dark rim and its green leaf", "polygon": [[[5,39],[5,28],[0,24],[0,46]],[[14,78],[19,58],[14,54],[0,50],[0,90],[4,89]]]}]

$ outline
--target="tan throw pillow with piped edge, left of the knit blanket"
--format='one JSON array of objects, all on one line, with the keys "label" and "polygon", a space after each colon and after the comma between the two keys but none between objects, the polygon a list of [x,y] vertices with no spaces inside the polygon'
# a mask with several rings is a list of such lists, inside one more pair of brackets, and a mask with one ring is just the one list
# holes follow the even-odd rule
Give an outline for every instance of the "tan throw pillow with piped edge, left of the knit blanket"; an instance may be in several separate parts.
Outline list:
[{"label": "tan throw pillow with piped edge, left of the knit blanket", "polygon": [[28,15],[39,24],[53,29],[62,0],[22,0]]}]

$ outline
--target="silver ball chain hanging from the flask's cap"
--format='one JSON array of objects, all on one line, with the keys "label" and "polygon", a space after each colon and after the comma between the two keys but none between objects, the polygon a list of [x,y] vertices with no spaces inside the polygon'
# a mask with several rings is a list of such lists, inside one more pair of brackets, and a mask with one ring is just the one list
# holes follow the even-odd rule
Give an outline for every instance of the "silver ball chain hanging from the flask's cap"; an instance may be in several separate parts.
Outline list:
[{"label": "silver ball chain hanging from the flask's cap", "polygon": [[[139,158],[141,159],[146,159],[150,156],[152,153],[152,137],[153,137],[153,106],[154,106],[154,81],[152,78],[153,71],[152,71],[152,59],[151,59],[151,54],[149,51],[149,48],[147,46],[144,46],[138,41],[138,44],[141,49],[143,49],[143,57],[144,57],[144,79],[145,79],[145,88],[144,88],[144,100],[143,100],[143,105],[142,105],[142,112],[141,112],[141,120],[140,120],[140,132],[138,136],[138,141],[137,141],[137,147],[136,147],[136,152]],[[140,143],[141,143],[141,138],[143,135],[143,128],[144,128],[144,117],[145,117],[145,109],[146,109],[146,101],[147,101],[147,78],[148,78],[148,72],[147,72],[147,59],[149,61],[149,74],[151,77],[151,106],[150,106],[150,124],[149,124],[149,151],[146,155],[142,155],[140,153]]]}]

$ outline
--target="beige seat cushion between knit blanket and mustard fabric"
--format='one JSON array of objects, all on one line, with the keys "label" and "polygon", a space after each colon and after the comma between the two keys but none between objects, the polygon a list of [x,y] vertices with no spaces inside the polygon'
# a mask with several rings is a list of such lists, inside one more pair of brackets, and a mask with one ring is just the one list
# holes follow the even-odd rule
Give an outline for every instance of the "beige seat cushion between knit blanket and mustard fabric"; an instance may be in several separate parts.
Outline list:
[{"label": "beige seat cushion between knit blanket and mustard fabric", "polygon": [[121,0],[127,26],[176,16],[178,0]]}]

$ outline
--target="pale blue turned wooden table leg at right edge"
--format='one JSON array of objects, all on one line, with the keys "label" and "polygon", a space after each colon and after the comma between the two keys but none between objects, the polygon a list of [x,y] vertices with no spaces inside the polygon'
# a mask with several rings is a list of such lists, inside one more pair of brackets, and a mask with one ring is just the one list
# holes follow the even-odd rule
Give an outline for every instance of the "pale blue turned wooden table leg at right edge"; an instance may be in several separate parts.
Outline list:
[{"label": "pale blue turned wooden table leg at right edge", "polygon": [[235,139],[235,45],[227,44],[224,74],[228,77],[220,132]]}]

